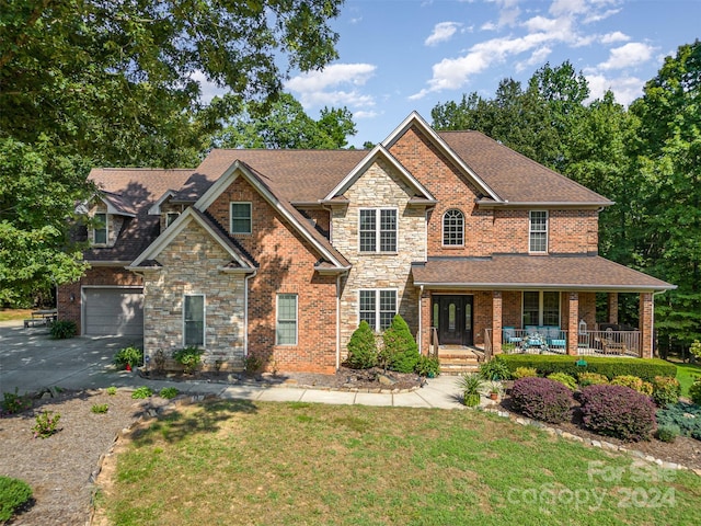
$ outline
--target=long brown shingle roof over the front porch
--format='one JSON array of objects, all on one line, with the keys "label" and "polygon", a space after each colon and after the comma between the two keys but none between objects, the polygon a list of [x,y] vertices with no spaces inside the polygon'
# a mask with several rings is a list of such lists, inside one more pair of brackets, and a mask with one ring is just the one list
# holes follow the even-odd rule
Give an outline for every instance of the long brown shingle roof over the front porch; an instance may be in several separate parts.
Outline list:
[{"label": "long brown shingle roof over the front porch", "polygon": [[429,258],[412,265],[414,285],[429,288],[657,291],[675,285],[598,255]]}]

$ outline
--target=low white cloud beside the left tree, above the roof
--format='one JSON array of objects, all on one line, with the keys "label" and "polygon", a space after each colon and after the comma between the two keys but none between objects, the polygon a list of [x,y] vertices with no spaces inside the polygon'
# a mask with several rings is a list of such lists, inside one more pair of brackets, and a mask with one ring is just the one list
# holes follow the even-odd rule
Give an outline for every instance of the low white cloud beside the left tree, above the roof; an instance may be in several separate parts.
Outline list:
[{"label": "low white cloud beside the left tree, above the roof", "polygon": [[306,110],[324,105],[348,106],[350,110],[369,107],[375,105],[375,99],[363,94],[358,88],[372,77],[376,69],[371,64],[333,64],[322,71],[291,78],[286,88],[297,94]]}]

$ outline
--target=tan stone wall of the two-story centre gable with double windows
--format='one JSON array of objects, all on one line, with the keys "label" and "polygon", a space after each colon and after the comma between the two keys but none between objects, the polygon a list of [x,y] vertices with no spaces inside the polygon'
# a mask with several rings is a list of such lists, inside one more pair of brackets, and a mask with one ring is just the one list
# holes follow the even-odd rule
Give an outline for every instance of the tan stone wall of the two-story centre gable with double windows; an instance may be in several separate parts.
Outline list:
[{"label": "tan stone wall of the two-story centre gable with double windows", "polygon": [[[407,207],[414,194],[402,176],[387,162],[374,163],[344,193],[349,204],[332,214],[333,244],[352,263],[341,297],[341,354],[347,355],[347,343],[359,323],[360,289],[397,289],[399,313],[411,331],[418,331],[418,289],[411,279],[411,264],[424,261],[426,227],[424,208]],[[398,209],[398,251],[394,253],[360,252],[358,239],[359,208],[394,207]]]}]

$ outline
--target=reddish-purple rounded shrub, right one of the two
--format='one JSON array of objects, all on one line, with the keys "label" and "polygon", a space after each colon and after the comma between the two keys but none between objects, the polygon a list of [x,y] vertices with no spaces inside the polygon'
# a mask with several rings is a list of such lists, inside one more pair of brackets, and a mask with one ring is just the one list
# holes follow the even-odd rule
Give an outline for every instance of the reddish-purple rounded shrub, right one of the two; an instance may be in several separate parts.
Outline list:
[{"label": "reddish-purple rounded shrub, right one of the two", "polygon": [[579,392],[584,425],[623,441],[646,441],[655,431],[655,404],[625,386],[588,386]]}]

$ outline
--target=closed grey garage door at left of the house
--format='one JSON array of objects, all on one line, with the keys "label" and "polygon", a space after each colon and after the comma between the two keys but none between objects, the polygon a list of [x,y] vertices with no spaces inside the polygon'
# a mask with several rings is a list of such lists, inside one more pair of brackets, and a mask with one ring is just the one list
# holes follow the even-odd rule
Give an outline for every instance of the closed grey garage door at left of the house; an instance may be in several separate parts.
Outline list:
[{"label": "closed grey garage door at left of the house", "polygon": [[143,335],[142,288],[85,288],[83,298],[87,335]]}]

